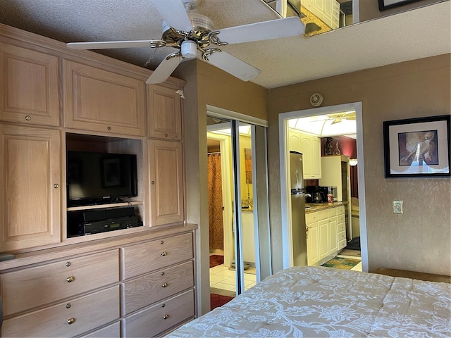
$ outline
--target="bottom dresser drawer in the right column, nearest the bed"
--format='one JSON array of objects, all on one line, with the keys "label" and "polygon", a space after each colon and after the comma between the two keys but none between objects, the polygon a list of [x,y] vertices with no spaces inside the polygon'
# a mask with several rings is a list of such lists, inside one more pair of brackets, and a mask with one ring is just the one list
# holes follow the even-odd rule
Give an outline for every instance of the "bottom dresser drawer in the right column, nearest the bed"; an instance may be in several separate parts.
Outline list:
[{"label": "bottom dresser drawer in the right column, nearest the bed", "polygon": [[188,318],[194,318],[194,291],[146,308],[125,318],[125,337],[155,337]]}]

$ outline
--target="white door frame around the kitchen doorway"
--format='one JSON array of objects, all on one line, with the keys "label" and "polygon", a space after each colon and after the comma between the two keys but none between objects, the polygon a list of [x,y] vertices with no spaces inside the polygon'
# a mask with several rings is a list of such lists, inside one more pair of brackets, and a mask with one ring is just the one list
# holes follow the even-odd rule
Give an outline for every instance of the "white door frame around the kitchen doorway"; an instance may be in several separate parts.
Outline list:
[{"label": "white door frame around the kitchen doorway", "polygon": [[359,225],[360,225],[360,249],[362,253],[362,271],[368,272],[368,245],[366,237],[366,203],[365,203],[365,176],[364,176],[364,147],[363,147],[363,123],[362,102],[340,104],[319,108],[304,109],[280,113],[279,123],[279,156],[280,156],[280,203],[282,217],[282,242],[283,242],[283,268],[289,268],[292,262],[292,232],[290,222],[290,187],[288,187],[288,119],[314,115],[328,115],[343,111],[354,110],[356,112],[357,127],[357,175],[359,175]]}]

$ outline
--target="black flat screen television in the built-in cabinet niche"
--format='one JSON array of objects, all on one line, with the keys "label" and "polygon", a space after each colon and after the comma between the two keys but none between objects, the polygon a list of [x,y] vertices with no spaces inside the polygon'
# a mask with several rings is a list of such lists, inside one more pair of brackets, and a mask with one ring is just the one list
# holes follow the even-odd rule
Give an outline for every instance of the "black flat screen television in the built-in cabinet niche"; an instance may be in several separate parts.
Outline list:
[{"label": "black flat screen television in the built-in cabinet niche", "polygon": [[137,196],[133,154],[67,152],[68,206],[121,202]]}]

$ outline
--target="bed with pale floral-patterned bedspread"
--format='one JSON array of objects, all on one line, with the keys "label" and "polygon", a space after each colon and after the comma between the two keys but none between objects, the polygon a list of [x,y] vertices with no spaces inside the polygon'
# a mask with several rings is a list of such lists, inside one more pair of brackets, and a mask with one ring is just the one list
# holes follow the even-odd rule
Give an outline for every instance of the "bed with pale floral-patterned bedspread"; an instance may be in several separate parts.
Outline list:
[{"label": "bed with pale floral-patterned bedspread", "polygon": [[451,337],[451,287],[294,267],[167,337]]}]

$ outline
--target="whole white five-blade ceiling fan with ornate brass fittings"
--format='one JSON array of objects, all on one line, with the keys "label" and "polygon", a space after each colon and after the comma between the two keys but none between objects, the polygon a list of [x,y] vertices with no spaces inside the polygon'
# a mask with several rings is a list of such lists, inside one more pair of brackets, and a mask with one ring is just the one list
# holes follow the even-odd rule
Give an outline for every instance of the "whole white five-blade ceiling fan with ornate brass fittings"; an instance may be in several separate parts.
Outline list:
[{"label": "whole white five-blade ceiling fan with ornate brass fittings", "polygon": [[163,18],[160,40],[70,42],[71,49],[111,49],[131,47],[173,47],[178,49],[160,63],[146,83],[166,81],[183,59],[199,57],[243,81],[252,80],[261,73],[249,63],[221,51],[218,46],[240,44],[266,39],[294,37],[304,33],[304,24],[297,17],[281,18],[214,30],[213,22],[198,13],[191,13],[199,0],[149,0]]}]

